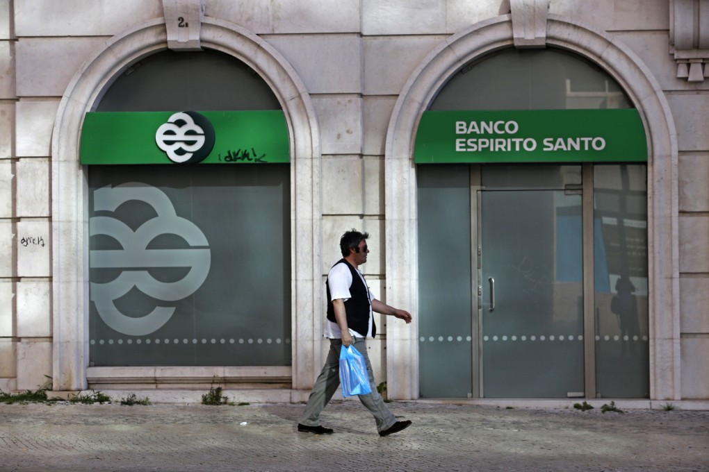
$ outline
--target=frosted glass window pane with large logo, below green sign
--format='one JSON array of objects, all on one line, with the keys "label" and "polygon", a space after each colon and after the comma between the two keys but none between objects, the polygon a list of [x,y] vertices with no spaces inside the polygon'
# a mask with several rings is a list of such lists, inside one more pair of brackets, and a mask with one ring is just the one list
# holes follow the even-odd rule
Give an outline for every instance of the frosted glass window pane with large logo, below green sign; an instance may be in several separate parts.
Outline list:
[{"label": "frosted glass window pane with large logo, below green sign", "polygon": [[288,165],[94,166],[96,366],[290,365]]}]

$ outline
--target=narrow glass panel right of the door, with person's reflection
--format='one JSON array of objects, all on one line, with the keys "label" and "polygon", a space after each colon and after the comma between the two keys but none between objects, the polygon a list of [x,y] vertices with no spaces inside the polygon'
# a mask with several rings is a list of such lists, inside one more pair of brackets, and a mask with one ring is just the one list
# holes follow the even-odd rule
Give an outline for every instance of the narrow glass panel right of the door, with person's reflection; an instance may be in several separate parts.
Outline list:
[{"label": "narrow glass panel right of the door, with person's reflection", "polygon": [[595,166],[596,392],[649,397],[647,168]]}]

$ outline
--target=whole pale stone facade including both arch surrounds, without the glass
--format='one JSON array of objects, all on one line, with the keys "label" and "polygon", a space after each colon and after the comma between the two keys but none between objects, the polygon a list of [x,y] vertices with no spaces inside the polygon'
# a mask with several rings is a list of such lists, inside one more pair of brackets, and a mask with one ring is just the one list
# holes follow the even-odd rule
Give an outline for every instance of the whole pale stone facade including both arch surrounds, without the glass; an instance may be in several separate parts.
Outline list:
[{"label": "whole pale stone facade including both arch surrounds, without the glass", "polygon": [[[180,11],[191,12],[189,37],[172,28]],[[343,229],[369,231],[364,274],[381,299],[416,316],[411,146],[422,103],[476,56],[547,44],[601,65],[640,109],[651,154],[650,398],[708,401],[708,18],[703,0],[0,0],[0,390],[34,389],[47,377],[56,391],[79,391],[92,376],[131,388],[121,379],[208,385],[214,375],[259,375],[87,373],[78,137],[125,64],[167,47],[220,50],[259,71],[284,104],[298,235],[292,280],[302,294],[292,388],[241,394],[302,401],[325,352],[322,281]],[[415,323],[378,322],[377,381],[391,398],[417,398]],[[164,396],[179,399],[179,388]]]}]

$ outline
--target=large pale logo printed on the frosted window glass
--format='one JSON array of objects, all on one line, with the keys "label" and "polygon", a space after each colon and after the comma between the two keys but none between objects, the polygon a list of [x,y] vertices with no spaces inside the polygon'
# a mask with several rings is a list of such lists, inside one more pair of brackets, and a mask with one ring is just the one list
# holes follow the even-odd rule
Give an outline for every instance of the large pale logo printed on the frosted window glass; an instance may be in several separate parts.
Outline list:
[{"label": "large pale logo printed on the frosted window glass", "polygon": [[[109,236],[118,241],[122,249],[91,251],[89,267],[123,270],[111,282],[91,282],[90,293],[96,311],[109,327],[118,333],[141,336],[164,326],[172,317],[174,307],[155,306],[152,312],[135,318],[121,313],[114,301],[134,287],[159,301],[177,301],[189,297],[206,279],[211,255],[202,231],[191,221],[178,217],[167,195],[150,185],[124,183],[94,190],[94,211],[115,212],[130,200],[147,203],[157,216],[140,224],[135,231],[114,217],[91,217],[91,236]],[[190,248],[148,248],[155,238],[165,234],[179,236]],[[180,280],[164,282],[156,280],[149,272],[150,269],[160,267],[189,267],[189,272]]]}]

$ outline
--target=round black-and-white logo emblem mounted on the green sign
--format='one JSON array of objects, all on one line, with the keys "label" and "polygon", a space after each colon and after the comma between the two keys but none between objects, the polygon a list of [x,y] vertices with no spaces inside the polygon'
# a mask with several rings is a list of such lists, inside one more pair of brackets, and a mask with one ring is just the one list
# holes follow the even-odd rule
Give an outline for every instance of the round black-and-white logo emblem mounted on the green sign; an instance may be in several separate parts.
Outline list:
[{"label": "round black-and-white logo emblem mounted on the green sign", "polygon": [[214,127],[204,115],[194,111],[174,113],[157,128],[155,143],[170,161],[196,163],[212,151]]}]

